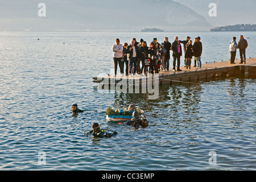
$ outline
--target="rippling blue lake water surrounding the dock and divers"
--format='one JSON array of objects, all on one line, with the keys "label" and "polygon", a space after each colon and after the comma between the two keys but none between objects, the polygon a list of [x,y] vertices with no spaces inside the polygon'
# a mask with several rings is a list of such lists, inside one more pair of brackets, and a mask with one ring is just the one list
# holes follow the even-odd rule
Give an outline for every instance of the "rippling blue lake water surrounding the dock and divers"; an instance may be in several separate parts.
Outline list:
[{"label": "rippling blue lake water surrounding the dock and divers", "polygon": [[[255,79],[164,85],[158,100],[99,93],[92,82],[113,69],[115,38],[150,43],[201,36],[205,63],[229,60],[228,44],[240,34],[250,38],[247,57],[255,57],[255,32],[0,32],[0,169],[255,170]],[[85,111],[76,118],[74,102]],[[143,108],[148,127],[105,121],[109,105],[129,104]],[[85,137],[93,122],[118,135]],[[211,151],[216,164],[209,163]]]}]

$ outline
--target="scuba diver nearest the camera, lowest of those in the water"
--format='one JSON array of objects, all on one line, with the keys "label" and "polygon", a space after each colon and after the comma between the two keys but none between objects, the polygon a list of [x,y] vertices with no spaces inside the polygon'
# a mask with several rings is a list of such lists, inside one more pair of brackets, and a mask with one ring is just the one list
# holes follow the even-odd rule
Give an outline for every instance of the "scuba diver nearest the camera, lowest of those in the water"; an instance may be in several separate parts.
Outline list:
[{"label": "scuba diver nearest the camera, lowest of those in the water", "polygon": [[106,130],[106,129],[100,129],[100,124],[98,123],[92,123],[92,129],[89,132],[84,134],[86,136],[88,136],[90,133],[94,136],[94,137],[112,137],[114,135],[117,135],[116,131],[111,131],[111,130]]}]

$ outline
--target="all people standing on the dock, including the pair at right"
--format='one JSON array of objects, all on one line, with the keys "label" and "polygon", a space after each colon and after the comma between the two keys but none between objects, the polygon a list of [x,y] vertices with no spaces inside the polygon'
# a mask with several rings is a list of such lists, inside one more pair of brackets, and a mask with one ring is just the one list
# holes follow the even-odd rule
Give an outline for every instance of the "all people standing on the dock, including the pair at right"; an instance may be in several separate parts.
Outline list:
[{"label": "all people standing on the dock, including the pair at right", "polygon": [[[236,57],[236,49],[240,47],[241,63],[245,63],[245,49],[247,48],[247,42],[240,36],[240,42],[235,44],[235,49],[231,51],[231,63],[234,63],[234,57]],[[137,42],[135,38],[130,41],[130,44],[120,43],[119,39],[115,39],[115,44],[112,47],[114,58],[114,77],[117,75],[117,66],[119,65],[121,76],[136,76],[144,75],[148,73],[154,75],[159,71],[169,72],[170,68],[170,53],[172,51],[173,67],[172,71],[180,72],[180,57],[184,51],[184,67],[191,69],[192,57],[194,57],[194,67],[201,69],[201,55],[203,52],[203,45],[200,42],[201,38],[198,36],[195,38],[194,43],[191,37],[187,36],[186,40],[179,40],[175,36],[174,42],[170,43],[168,38],[164,38],[163,43],[158,43],[158,40],[154,38],[152,42],[147,46],[147,43],[141,39]],[[233,38],[233,43],[236,43],[236,39]],[[183,51],[181,48],[183,44]],[[232,44],[232,43],[230,43]],[[233,44],[232,44],[233,45]],[[125,69],[124,69],[125,68]]]}]

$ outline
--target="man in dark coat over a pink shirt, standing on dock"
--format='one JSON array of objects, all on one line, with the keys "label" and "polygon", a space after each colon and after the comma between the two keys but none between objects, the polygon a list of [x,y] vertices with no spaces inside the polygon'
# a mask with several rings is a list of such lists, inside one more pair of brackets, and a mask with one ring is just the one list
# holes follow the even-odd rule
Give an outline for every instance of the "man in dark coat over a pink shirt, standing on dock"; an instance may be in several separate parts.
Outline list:
[{"label": "man in dark coat over a pink shirt, standing on dock", "polygon": [[176,72],[176,60],[177,60],[177,71],[182,71],[180,69],[180,56],[182,56],[182,48],[179,42],[179,38],[176,36],[175,41],[172,43],[172,56],[174,57],[173,71]]}]

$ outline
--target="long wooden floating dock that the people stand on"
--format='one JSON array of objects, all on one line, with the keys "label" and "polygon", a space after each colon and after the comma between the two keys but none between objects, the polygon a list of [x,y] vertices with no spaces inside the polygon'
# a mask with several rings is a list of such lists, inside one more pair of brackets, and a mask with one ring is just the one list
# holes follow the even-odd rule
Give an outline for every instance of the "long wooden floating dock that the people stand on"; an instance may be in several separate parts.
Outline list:
[{"label": "long wooden floating dock that the people stand on", "polygon": [[[235,61],[236,64],[230,64],[230,61],[220,61],[216,63],[205,63],[202,64],[201,69],[196,69],[193,64],[191,64],[191,69],[186,69],[185,67],[181,67],[182,71],[173,72],[172,69],[168,72],[159,72],[159,74],[155,74],[150,77],[158,77],[158,84],[172,84],[174,82],[196,82],[201,80],[208,80],[214,77],[221,76],[243,76],[249,75],[251,77],[256,77],[256,58],[246,59],[246,64],[239,64],[240,60]],[[172,61],[170,61],[170,68],[172,68]],[[148,77],[148,76],[147,76]],[[133,85],[143,85],[143,82],[147,80],[146,76],[121,76],[117,75],[114,77],[113,75],[100,75],[97,77],[93,77],[93,82],[101,83],[104,81],[104,84],[118,84],[118,82],[122,80],[133,80]],[[154,80],[154,78],[152,78]]]}]

